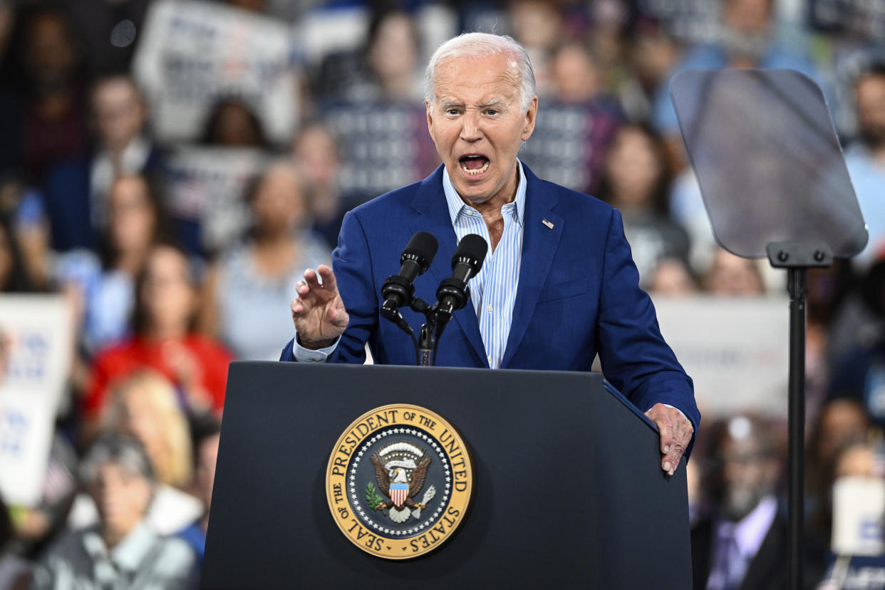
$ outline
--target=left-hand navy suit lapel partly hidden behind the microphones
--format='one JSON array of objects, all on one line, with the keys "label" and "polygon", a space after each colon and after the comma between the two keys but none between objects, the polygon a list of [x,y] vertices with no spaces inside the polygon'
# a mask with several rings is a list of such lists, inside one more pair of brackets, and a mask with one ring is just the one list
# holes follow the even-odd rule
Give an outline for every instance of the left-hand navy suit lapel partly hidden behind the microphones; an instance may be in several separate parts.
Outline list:
[{"label": "left-hand navy suit lapel partly hidden behind the microphones", "polygon": [[[445,200],[445,192],[443,191],[442,165],[436,169],[436,172],[421,182],[421,187],[418,194],[415,195],[412,208],[418,213],[418,216],[413,218],[412,223],[409,224],[412,234],[421,231],[430,232],[434,234],[439,242],[436,257],[433,263],[430,264],[428,271],[434,278],[434,284],[439,285],[443,280],[451,276],[451,257],[455,254],[455,249],[458,247],[455,230],[451,226],[451,217]],[[432,301],[427,303],[433,304]],[[482,336],[480,335],[480,323],[473,312],[473,304],[468,301],[465,309],[456,311],[453,317],[455,319],[454,324],[465,334],[477,359],[482,364],[488,366],[486,348],[482,344]],[[451,329],[452,326],[447,326],[447,331]]]}]

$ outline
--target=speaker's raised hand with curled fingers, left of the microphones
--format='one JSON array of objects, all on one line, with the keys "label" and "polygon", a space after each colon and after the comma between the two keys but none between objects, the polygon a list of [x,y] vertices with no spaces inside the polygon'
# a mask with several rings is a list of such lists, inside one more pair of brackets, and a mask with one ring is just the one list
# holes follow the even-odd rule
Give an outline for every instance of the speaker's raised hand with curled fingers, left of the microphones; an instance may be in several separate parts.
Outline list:
[{"label": "speaker's raised hand with curled fingers, left of the microphones", "polygon": [[313,350],[335,344],[350,321],[338,293],[335,273],[325,264],[320,264],[316,271],[309,268],[295,289],[297,295],[289,307],[298,343]]}]

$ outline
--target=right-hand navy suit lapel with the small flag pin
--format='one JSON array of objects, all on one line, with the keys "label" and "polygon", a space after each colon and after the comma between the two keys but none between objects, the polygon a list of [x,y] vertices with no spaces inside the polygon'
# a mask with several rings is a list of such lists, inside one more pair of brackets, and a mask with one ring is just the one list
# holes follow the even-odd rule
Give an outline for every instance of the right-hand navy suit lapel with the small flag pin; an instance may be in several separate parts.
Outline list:
[{"label": "right-hand navy suit lapel with the small flag pin", "polygon": [[[522,228],[522,254],[519,287],[513,304],[513,318],[501,366],[506,367],[526,334],[535,313],[538,295],[550,273],[553,256],[562,237],[565,221],[553,212],[558,201],[553,192],[523,166],[526,172],[526,214]],[[546,222],[546,223],[545,223]],[[552,226],[552,227],[551,227]]]}]

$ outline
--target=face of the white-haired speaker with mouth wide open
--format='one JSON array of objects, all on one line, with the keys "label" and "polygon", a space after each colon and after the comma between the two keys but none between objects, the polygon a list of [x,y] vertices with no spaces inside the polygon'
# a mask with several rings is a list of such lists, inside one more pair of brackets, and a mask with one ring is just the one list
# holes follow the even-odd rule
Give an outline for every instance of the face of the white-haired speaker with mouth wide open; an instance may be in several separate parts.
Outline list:
[{"label": "face of the white-haired speaker with mouth wide open", "polygon": [[437,65],[427,127],[458,195],[477,206],[512,201],[519,142],[535,129],[538,99],[519,104],[519,70],[504,54]]}]

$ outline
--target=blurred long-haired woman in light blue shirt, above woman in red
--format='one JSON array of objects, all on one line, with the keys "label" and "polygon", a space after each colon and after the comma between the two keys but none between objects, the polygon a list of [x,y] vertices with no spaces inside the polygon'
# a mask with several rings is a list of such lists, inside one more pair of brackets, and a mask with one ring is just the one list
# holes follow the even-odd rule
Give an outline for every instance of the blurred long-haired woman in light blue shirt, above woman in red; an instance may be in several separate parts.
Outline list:
[{"label": "blurred long-haired woman in light blue shirt, above woman in red", "polygon": [[75,250],[59,258],[59,279],[77,288],[81,301],[81,343],[94,354],[126,339],[135,304],[135,278],[150,247],[167,234],[157,184],[141,174],[113,180],[108,223],[96,256]]}]

